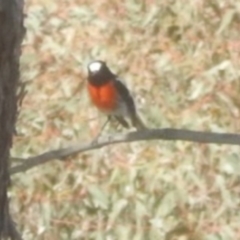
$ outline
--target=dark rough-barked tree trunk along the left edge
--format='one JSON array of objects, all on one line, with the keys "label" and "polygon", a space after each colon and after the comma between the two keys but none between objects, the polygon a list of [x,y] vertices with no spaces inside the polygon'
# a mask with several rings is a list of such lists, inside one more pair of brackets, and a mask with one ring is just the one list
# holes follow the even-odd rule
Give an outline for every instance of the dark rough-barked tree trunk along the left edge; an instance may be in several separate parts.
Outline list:
[{"label": "dark rough-barked tree trunk along the left edge", "polygon": [[23,0],[0,0],[0,239],[20,239],[9,214],[7,188],[23,34]]}]

